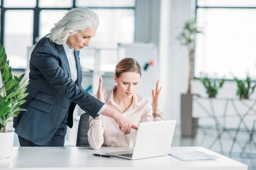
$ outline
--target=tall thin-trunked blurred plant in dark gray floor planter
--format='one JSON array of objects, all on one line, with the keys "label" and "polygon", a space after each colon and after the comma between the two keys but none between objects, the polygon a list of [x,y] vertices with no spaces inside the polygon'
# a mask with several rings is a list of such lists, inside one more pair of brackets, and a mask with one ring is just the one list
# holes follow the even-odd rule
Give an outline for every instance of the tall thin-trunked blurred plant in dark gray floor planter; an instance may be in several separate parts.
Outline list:
[{"label": "tall thin-trunked blurred plant in dark gray floor planter", "polygon": [[193,79],[194,70],[194,47],[195,47],[195,36],[201,33],[196,25],[196,19],[187,21],[180,34],[178,34],[177,39],[180,44],[186,46],[189,51],[189,85],[186,94],[181,94],[181,132],[182,136],[193,137],[196,133],[193,133],[197,127],[197,119],[192,119],[192,92],[191,92],[191,82]]}]

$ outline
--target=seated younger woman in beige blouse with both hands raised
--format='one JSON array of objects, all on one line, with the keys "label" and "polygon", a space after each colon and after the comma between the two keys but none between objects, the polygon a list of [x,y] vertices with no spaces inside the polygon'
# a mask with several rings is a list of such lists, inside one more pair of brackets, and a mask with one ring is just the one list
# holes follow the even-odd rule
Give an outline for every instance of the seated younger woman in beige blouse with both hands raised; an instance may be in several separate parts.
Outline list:
[{"label": "seated younger woman in beige blouse with both hands raised", "polygon": [[[140,122],[161,121],[159,80],[156,91],[152,90],[153,108],[149,98],[135,94],[139,87],[141,67],[133,58],[124,58],[116,65],[114,74],[115,85],[110,91],[102,88],[102,78],[99,79],[97,99],[123,114],[134,125]],[[154,115],[153,115],[154,114]],[[102,146],[107,147],[133,147],[137,131],[131,130],[130,134],[120,131],[115,120],[99,115],[95,119],[89,119],[88,142],[92,149],[98,150]]]}]

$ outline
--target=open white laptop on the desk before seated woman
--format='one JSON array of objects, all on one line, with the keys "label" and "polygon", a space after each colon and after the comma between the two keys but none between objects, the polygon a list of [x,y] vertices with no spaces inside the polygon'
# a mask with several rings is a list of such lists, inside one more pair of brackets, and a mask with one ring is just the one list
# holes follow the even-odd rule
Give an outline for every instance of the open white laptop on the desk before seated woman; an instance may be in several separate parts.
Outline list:
[{"label": "open white laptop on the desk before seated woman", "polygon": [[133,150],[109,152],[106,155],[124,159],[144,159],[169,154],[176,120],[141,122]]}]

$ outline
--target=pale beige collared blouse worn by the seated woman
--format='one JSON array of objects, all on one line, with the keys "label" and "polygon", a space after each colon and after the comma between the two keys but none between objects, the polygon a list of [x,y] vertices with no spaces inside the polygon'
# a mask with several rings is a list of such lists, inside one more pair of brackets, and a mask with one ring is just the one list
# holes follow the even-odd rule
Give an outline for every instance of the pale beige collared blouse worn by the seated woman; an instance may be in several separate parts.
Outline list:
[{"label": "pale beige collared blouse worn by the seated woman", "polygon": [[[123,114],[126,119],[134,125],[140,122],[161,121],[161,118],[152,116],[153,110],[149,98],[145,98],[138,94],[133,95],[131,106],[121,113],[118,105],[113,101],[113,90],[105,91],[105,104]],[[94,96],[96,97],[96,96]],[[137,136],[137,130],[131,129],[131,133],[125,133],[119,130],[119,126],[111,117],[102,115],[101,119],[89,119],[90,129],[88,131],[88,142],[92,149],[98,150],[103,147],[133,147]]]}]

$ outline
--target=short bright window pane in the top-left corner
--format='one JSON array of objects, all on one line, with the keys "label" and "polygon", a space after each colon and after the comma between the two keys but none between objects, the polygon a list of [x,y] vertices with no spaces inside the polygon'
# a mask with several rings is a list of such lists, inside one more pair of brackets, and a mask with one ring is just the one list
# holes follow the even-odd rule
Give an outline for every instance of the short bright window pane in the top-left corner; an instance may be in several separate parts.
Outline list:
[{"label": "short bright window pane in the top-left corner", "polygon": [[4,7],[35,7],[36,0],[4,0]]}]

